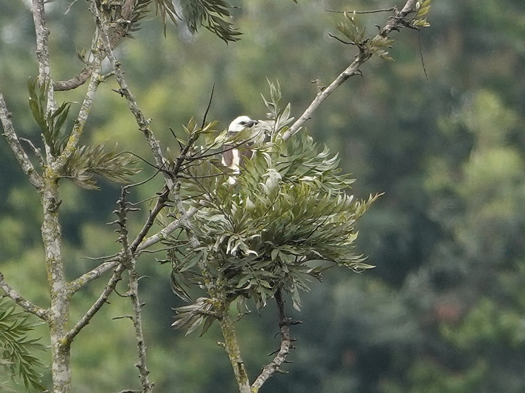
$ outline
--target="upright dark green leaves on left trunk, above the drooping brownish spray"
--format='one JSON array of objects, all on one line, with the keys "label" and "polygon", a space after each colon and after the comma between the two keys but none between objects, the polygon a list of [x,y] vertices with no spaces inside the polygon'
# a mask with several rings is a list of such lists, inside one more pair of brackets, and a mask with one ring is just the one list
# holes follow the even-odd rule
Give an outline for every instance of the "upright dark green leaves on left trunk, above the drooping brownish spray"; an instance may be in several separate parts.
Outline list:
[{"label": "upright dark green leaves on left trunk, above the drooping brownish spray", "polygon": [[47,92],[49,82],[39,83],[38,78],[27,81],[29,92],[29,107],[37,124],[40,126],[46,145],[51,155],[60,155],[66,146],[68,135],[62,132],[66,122],[71,102],[63,102],[55,111],[47,112]]}]

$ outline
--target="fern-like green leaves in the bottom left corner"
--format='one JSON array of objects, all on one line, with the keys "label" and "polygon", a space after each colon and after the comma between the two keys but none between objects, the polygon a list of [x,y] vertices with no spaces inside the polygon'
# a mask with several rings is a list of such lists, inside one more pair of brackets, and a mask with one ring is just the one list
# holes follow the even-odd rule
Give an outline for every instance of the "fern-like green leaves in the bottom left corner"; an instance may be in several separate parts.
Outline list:
[{"label": "fern-like green leaves in the bottom left corner", "polygon": [[29,314],[16,311],[6,297],[0,298],[0,367],[7,370],[13,380],[20,378],[26,389],[41,391],[45,388],[40,385],[42,374],[38,369],[45,366],[33,353],[44,351],[45,346],[39,339],[28,338],[28,333],[37,326],[29,318]]}]

